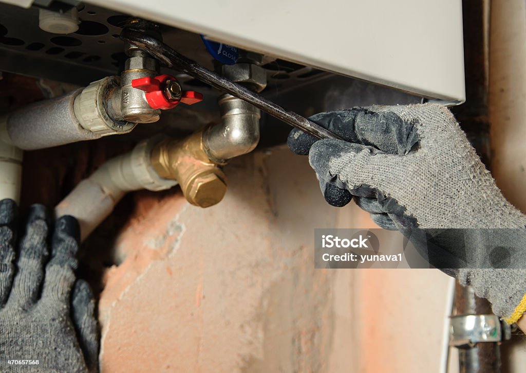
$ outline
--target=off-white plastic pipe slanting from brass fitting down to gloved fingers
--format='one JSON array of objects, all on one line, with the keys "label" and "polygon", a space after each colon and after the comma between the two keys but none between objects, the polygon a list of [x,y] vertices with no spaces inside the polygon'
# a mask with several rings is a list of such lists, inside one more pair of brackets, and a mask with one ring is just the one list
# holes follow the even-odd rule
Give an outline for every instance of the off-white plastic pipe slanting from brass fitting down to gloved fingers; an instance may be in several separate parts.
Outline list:
[{"label": "off-white plastic pipe slanting from brass fitting down to gloved fingers", "polygon": [[81,181],[56,207],[57,218],[72,215],[80,224],[80,240],[88,237],[113,211],[127,192],[169,189],[175,180],[161,178],[151,165],[151,149],[162,139],[155,136],[141,141],[134,150],[104,163]]}]

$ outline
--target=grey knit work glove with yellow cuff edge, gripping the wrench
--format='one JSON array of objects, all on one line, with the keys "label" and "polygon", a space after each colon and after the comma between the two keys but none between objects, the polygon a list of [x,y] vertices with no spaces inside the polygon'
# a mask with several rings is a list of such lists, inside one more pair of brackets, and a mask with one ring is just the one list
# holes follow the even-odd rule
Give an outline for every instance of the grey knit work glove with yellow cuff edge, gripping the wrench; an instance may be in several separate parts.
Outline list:
[{"label": "grey knit work glove with yellow cuff edge, gripping the wrench", "polygon": [[[424,257],[471,285],[496,315],[520,318],[526,217],[505,200],[446,107],[356,107],[310,120],[345,140],[317,141],[297,129],[288,137],[292,151],[309,154],[328,203],[354,199],[380,227],[399,229],[417,249],[426,245]],[[517,269],[502,269],[509,267]]]}]

